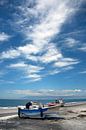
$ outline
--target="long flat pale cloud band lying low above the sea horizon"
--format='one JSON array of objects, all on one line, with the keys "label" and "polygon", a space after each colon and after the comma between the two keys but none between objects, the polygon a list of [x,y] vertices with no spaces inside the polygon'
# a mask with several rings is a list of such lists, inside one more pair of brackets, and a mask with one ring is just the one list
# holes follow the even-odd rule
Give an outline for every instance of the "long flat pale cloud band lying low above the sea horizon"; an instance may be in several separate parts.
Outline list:
[{"label": "long flat pale cloud band lying low above the sea horizon", "polygon": [[40,90],[13,90],[12,93],[23,96],[79,96],[82,95],[83,90],[81,89],[69,89],[69,90],[51,90],[51,89],[40,89]]}]

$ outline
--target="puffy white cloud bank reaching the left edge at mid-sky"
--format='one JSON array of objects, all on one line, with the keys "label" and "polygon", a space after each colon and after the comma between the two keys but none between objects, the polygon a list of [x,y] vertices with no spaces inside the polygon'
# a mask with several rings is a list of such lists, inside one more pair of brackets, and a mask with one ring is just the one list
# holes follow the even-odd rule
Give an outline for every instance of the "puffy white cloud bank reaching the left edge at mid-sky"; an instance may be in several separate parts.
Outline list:
[{"label": "puffy white cloud bank reaching the left edge at mid-sky", "polygon": [[11,59],[17,58],[19,56],[25,56],[26,58],[30,56],[30,54],[36,54],[39,51],[35,45],[27,44],[25,46],[20,46],[16,49],[10,49],[8,51],[4,51],[1,53],[1,59]]}]

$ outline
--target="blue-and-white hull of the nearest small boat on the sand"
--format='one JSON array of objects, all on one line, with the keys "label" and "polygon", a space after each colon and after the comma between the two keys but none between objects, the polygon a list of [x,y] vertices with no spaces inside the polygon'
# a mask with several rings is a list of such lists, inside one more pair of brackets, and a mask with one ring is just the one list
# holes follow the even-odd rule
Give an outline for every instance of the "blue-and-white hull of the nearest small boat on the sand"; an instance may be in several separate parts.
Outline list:
[{"label": "blue-and-white hull of the nearest small boat on the sand", "polygon": [[18,108],[18,116],[19,116],[19,118],[22,118],[22,117],[28,117],[28,118],[41,117],[41,118],[43,118],[44,113],[47,110],[48,110],[47,107],[31,109],[31,110]]}]

